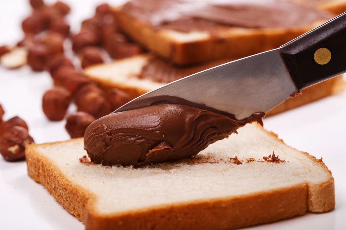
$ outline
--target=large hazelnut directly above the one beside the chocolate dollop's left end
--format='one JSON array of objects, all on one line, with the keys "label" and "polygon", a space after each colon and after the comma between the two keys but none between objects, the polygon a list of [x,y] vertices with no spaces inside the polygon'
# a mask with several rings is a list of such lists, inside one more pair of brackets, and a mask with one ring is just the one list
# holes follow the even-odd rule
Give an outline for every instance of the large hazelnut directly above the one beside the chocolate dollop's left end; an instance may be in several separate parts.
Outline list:
[{"label": "large hazelnut directly above the one beside the chocolate dollop's left end", "polygon": [[90,113],[95,118],[106,116],[111,112],[110,103],[98,93],[84,94],[77,103],[78,111]]}]

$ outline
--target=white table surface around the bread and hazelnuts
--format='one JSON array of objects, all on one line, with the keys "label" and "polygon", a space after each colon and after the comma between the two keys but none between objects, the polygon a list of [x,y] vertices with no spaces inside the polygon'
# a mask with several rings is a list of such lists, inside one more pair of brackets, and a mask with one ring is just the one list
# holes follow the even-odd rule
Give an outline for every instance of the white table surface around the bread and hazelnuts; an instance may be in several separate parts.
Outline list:
[{"label": "white table surface around the bread and hazelnuts", "polygon": [[[52,2],[52,1],[47,1]],[[76,31],[82,19],[103,1],[66,1]],[[118,1],[110,1],[115,4]],[[0,1],[0,46],[21,39],[20,22],[30,12],[27,0]],[[0,103],[4,119],[20,116],[36,143],[69,139],[65,121],[51,122],[41,109],[43,93],[52,87],[47,72],[34,73],[28,67],[7,70],[0,67]],[[69,112],[75,111],[71,106]],[[323,161],[335,178],[336,207],[323,214],[303,216],[247,229],[346,229],[346,92],[266,118],[264,127],[279,134],[285,143],[309,152]],[[82,230],[84,225],[67,212],[43,186],[31,180],[24,161],[9,163],[0,157],[0,229]]]}]

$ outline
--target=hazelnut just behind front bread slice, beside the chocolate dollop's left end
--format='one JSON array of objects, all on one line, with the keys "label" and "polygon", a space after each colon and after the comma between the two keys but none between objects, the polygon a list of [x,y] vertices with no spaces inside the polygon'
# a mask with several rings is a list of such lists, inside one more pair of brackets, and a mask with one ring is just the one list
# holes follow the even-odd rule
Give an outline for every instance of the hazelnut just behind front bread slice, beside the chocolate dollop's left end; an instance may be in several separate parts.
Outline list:
[{"label": "hazelnut just behind front bread slice, beside the chocolate dollop's left end", "polygon": [[83,137],[86,128],[96,120],[91,114],[86,112],[75,112],[67,117],[65,125],[66,131],[71,138]]}]

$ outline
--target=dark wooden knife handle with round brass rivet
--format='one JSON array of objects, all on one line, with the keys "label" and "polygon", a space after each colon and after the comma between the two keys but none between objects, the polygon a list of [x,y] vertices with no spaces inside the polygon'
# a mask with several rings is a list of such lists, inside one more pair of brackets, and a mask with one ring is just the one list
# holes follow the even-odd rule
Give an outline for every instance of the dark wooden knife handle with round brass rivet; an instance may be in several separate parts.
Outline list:
[{"label": "dark wooden knife handle with round brass rivet", "polygon": [[346,12],[280,50],[298,90],[346,72]]}]

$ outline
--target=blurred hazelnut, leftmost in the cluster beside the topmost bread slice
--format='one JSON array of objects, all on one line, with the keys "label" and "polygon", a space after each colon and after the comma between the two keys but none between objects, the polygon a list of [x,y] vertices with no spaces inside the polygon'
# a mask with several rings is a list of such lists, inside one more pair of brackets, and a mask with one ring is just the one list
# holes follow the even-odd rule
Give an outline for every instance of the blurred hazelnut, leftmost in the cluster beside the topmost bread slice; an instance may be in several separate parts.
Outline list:
[{"label": "blurred hazelnut, leftmost in the cluster beside the topmost bread slice", "polygon": [[97,34],[92,30],[83,30],[76,34],[72,39],[72,49],[78,53],[82,48],[87,46],[96,46],[99,43]]}]

